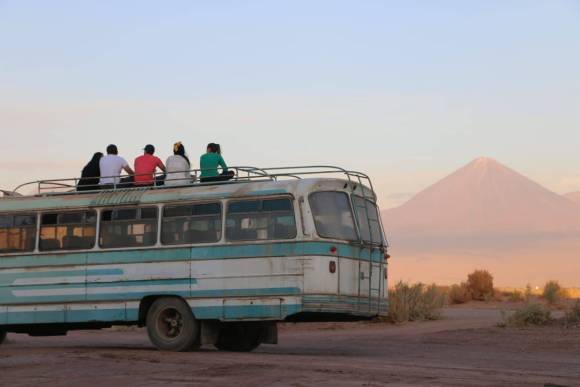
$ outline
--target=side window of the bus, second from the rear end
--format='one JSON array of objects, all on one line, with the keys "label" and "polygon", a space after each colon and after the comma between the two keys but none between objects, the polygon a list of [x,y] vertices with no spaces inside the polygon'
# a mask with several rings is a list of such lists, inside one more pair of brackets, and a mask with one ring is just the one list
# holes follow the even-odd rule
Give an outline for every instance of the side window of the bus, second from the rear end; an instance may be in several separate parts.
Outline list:
[{"label": "side window of the bus, second from the rear end", "polygon": [[220,203],[166,206],[161,242],[164,245],[217,242],[222,237]]}]

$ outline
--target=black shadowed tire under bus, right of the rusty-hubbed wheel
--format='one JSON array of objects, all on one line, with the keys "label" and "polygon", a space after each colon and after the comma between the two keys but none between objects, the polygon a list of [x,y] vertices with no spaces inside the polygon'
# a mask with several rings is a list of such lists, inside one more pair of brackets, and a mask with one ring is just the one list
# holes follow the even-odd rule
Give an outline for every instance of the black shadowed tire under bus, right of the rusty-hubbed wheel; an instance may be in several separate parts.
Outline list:
[{"label": "black shadowed tire under bus, right of the rusty-hubbed wheel", "polygon": [[215,347],[220,351],[251,352],[260,346],[262,331],[260,323],[224,323]]}]

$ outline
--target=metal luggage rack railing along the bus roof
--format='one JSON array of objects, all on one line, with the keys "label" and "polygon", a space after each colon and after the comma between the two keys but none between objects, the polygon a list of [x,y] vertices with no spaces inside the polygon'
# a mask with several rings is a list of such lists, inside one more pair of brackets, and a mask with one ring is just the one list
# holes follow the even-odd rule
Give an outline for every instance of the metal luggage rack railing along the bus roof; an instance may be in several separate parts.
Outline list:
[{"label": "metal luggage rack railing along the bus roof", "polygon": [[[307,165],[307,166],[295,166],[295,167],[270,167],[270,168],[257,168],[257,167],[228,167],[229,171],[234,172],[234,176],[229,180],[222,181],[211,181],[211,182],[200,182],[198,176],[202,172],[200,169],[192,169],[190,171],[181,171],[176,173],[187,173],[191,175],[190,179],[170,179],[171,181],[181,182],[178,185],[172,185],[174,187],[192,187],[192,186],[208,186],[208,185],[219,185],[219,184],[239,184],[248,182],[263,182],[263,181],[279,181],[286,179],[303,179],[308,177],[342,177],[346,178],[349,182],[360,184],[364,186],[367,185],[368,188],[374,193],[373,185],[371,179],[368,175],[347,170],[341,167],[331,166],[331,165]],[[165,189],[169,188],[160,182],[163,181],[162,177],[164,173],[154,174],[154,184],[151,186],[133,186],[133,183],[127,181],[129,176],[105,176],[109,178],[114,178],[115,181],[120,181],[119,183],[112,184],[105,190],[109,192],[114,191],[129,191],[129,190],[152,190],[152,189]],[[14,197],[14,196],[28,196],[23,193],[23,191],[35,190],[36,192],[32,195],[80,195],[83,193],[90,193],[95,191],[103,191],[103,187],[99,185],[83,185],[82,190],[79,190],[79,183],[81,178],[64,178],[64,179],[50,179],[50,180],[37,180],[25,184],[21,184],[16,187],[13,191],[3,191],[4,197]]]}]

